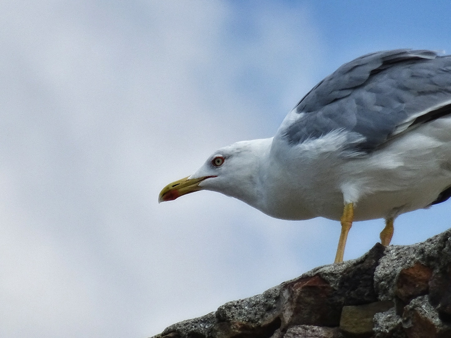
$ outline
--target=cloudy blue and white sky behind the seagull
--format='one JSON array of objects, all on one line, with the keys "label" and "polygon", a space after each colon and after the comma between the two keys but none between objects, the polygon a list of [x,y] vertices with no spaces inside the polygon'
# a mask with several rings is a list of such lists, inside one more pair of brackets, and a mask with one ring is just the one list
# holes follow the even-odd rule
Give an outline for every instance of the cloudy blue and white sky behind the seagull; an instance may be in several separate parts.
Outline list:
[{"label": "cloudy blue and white sky behind the seagull", "polygon": [[[396,5],[394,5],[396,3]],[[327,219],[221,194],[157,204],[215,149],[271,137],[346,61],[451,53],[449,1],[1,1],[0,337],[137,337],[333,261]],[[449,227],[397,219],[393,244]],[[354,224],[345,259],[378,241]]]}]

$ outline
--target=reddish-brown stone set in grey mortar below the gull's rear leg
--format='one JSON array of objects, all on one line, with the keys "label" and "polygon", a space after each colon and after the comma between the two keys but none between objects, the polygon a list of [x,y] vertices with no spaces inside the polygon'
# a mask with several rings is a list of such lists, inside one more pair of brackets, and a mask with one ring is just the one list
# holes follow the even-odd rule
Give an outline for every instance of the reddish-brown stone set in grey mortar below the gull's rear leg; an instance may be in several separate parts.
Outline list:
[{"label": "reddish-brown stone set in grey mortar below the gull's rear leg", "polygon": [[402,269],[396,281],[396,296],[408,302],[427,294],[431,277],[432,269],[418,262],[410,268]]}]

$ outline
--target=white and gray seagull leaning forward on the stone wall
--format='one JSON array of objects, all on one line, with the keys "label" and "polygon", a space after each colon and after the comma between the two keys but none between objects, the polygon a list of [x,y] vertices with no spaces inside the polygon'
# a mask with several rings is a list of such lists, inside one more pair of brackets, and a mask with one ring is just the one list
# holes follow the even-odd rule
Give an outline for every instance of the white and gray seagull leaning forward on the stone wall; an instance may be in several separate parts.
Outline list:
[{"label": "white and gray seagull leaning forward on the stone wall", "polygon": [[451,196],[451,55],[384,50],[343,64],[291,110],[274,137],[214,152],[159,202],[221,192],[291,220],[341,221],[335,262],[353,221],[393,222]]}]

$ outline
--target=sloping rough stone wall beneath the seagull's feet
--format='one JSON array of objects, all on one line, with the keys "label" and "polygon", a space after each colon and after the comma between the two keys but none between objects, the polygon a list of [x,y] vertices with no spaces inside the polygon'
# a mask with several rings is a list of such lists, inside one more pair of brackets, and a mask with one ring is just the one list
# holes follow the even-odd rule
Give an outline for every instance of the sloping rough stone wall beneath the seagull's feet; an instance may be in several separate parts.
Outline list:
[{"label": "sloping rough stone wall beneath the seagull's feet", "polygon": [[207,337],[451,338],[451,229],[410,246],[376,244],[153,338]]}]

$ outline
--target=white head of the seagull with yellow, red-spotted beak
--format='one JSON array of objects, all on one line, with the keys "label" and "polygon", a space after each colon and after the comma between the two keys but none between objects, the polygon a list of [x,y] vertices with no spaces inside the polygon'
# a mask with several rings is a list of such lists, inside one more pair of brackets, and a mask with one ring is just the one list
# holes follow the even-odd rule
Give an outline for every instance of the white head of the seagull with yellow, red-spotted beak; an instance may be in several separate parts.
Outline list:
[{"label": "white head of the seagull with yellow, red-spotted beak", "polygon": [[260,209],[260,168],[267,160],[271,141],[272,138],[241,141],[215,151],[196,173],[164,187],[158,201],[172,201],[190,192],[211,190]]}]

